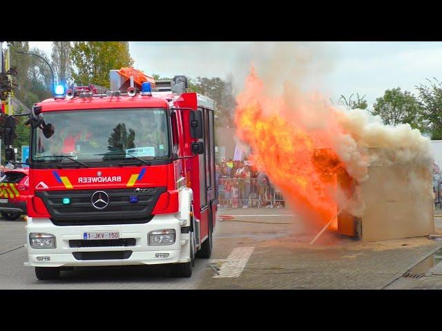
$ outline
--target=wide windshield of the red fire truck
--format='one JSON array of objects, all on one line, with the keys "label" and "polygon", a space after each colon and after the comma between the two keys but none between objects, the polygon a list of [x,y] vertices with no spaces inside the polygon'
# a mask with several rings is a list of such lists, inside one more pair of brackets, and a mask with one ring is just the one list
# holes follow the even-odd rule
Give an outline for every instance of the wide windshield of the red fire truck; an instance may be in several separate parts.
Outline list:
[{"label": "wide windshield of the red fire truck", "polygon": [[[53,126],[32,132],[32,161],[36,163],[163,159],[169,156],[166,110],[124,108],[46,112]],[[70,161],[71,160],[71,161]]]}]

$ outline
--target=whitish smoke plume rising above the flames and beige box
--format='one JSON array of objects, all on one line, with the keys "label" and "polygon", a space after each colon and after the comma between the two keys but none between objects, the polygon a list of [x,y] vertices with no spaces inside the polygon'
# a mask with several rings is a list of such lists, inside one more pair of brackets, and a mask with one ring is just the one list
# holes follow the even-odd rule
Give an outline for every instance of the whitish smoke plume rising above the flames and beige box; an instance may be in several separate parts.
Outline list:
[{"label": "whitish smoke plume rising above the flames and beige box", "polygon": [[[257,102],[261,116],[278,115],[293,130],[307,132],[316,148],[336,152],[356,186],[368,179],[369,166],[421,165],[430,171],[430,139],[419,130],[408,124],[385,126],[380,117],[365,110],[333,106],[327,94],[319,92],[321,77],[333,68],[333,59],[334,49],[325,44],[256,43],[242,55],[239,67],[244,70],[253,63],[261,86],[256,83],[247,90],[246,84],[238,97],[239,108]],[[267,171],[272,179],[272,170]],[[410,177],[413,176],[411,173]],[[430,186],[417,178],[412,185],[432,194]],[[338,192],[336,199],[343,203],[343,194]],[[363,214],[363,197],[358,187],[347,209],[356,216]]]}]

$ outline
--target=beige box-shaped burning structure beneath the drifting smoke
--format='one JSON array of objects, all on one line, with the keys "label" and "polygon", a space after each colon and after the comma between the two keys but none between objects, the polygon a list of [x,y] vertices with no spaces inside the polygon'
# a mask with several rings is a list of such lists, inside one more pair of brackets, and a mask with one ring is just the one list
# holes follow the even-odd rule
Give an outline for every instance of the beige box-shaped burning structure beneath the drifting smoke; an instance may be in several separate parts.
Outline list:
[{"label": "beige box-shaped burning structure beneath the drifting smoke", "polygon": [[[369,153],[385,154],[378,148]],[[434,233],[434,204],[430,194],[430,163],[390,163],[377,159],[368,167],[368,179],[360,183],[365,204],[358,217],[349,212],[338,215],[338,232],[366,241],[419,237]],[[340,177],[347,194],[354,183]]]}]

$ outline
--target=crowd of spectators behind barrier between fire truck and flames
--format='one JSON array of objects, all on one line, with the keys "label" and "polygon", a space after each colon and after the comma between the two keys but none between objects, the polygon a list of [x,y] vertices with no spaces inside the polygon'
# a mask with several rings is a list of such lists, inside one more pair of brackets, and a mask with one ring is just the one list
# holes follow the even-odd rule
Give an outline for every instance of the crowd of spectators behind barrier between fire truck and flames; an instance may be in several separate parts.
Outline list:
[{"label": "crowd of spectators behind barrier between fire truck and flames", "polygon": [[285,201],[269,177],[250,161],[229,161],[215,165],[220,207],[282,208]]}]

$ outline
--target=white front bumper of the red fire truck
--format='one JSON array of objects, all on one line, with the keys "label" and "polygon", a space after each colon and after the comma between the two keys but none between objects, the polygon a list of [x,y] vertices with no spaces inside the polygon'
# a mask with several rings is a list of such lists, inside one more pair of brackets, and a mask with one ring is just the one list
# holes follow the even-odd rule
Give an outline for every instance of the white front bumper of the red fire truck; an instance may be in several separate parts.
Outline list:
[{"label": "white front bumper of the red fire truck", "polygon": [[[175,229],[176,238],[173,245],[148,245],[147,234],[154,230]],[[135,245],[112,247],[71,248],[70,240],[83,239],[84,232],[117,231],[121,239],[135,239]],[[46,232],[55,235],[56,248],[35,249],[29,244],[30,232]],[[36,267],[73,267],[95,265],[142,265],[162,263],[184,263],[190,259],[189,234],[181,233],[180,220],[173,215],[155,215],[151,221],[142,224],[119,225],[75,225],[57,226],[50,219],[29,219],[26,225],[26,247],[28,248],[28,263]],[[124,259],[78,259],[75,252],[127,252]],[[169,253],[169,257],[157,258],[157,253]],[[75,257],[77,256],[77,258]],[[37,257],[49,257],[50,261],[38,261]]]}]

